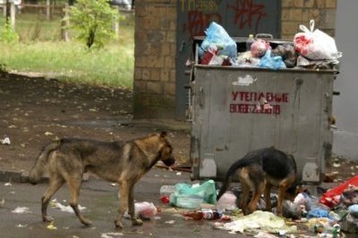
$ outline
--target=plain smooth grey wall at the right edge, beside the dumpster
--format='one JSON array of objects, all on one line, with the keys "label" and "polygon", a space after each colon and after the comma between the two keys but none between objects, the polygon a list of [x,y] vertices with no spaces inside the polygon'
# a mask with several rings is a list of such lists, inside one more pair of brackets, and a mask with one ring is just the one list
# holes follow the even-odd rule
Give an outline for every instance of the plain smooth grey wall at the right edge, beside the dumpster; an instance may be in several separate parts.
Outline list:
[{"label": "plain smooth grey wall at the right edge, beside the dumpster", "polygon": [[340,74],[335,90],[341,94],[333,101],[337,131],[333,137],[333,152],[348,159],[358,160],[358,1],[337,1],[337,47],[343,53]]}]

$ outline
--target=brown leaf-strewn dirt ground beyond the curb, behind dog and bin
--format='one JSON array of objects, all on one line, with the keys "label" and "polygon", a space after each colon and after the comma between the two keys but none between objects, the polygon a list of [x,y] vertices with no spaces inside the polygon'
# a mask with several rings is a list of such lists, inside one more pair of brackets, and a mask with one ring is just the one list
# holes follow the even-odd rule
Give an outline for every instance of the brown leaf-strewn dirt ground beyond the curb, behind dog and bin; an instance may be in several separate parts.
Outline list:
[{"label": "brown leaf-strewn dirt ground beyond the curb, behind dog and bin", "polygon": [[[5,137],[11,142],[0,143],[0,171],[29,171],[56,137],[126,140],[161,129],[170,133],[179,165],[189,166],[190,127],[133,120],[130,90],[0,72],[0,111],[0,142]],[[344,181],[358,173],[358,163],[333,159],[328,173],[334,182]]]}]

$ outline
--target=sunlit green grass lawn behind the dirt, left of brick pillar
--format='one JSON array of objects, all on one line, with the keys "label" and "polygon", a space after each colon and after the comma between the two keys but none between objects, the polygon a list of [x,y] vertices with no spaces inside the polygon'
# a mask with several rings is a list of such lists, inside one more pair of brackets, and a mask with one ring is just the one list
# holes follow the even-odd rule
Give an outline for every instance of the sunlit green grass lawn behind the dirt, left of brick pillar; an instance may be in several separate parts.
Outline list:
[{"label": "sunlit green grass lawn behind the dirt, left of brick pillar", "polygon": [[[60,37],[59,19],[44,21],[30,14],[16,20],[19,43],[0,44],[0,64],[6,70],[39,72],[51,78],[103,86],[132,88],[134,18],[121,23],[120,37],[90,51],[75,40]],[[0,21],[0,28],[4,21]]]}]

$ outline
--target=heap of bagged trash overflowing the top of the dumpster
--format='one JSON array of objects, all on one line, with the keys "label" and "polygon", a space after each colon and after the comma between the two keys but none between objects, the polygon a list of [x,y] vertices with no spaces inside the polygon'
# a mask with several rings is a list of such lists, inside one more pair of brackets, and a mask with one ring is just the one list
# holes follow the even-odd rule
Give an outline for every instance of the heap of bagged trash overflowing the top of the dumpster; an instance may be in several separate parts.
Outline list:
[{"label": "heap of bagged trash overflowing the top of the dumpster", "polygon": [[254,67],[271,70],[314,69],[337,70],[342,53],[333,37],[320,29],[301,25],[292,41],[274,43],[270,38],[250,35],[243,44],[235,42],[226,30],[211,22],[198,48],[199,63],[215,66]]}]

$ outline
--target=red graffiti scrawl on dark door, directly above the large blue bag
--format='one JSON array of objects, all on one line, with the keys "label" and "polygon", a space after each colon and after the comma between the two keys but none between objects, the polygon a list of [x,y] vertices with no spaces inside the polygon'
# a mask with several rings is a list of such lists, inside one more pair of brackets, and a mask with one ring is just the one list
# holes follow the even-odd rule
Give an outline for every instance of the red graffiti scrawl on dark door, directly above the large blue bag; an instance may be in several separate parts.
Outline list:
[{"label": "red graffiti scrawl on dark door, directly above the large blue bag", "polygon": [[188,24],[183,24],[183,32],[188,31],[190,37],[204,36],[205,29],[211,21],[221,22],[219,13],[203,13],[200,11],[188,12]]}]

